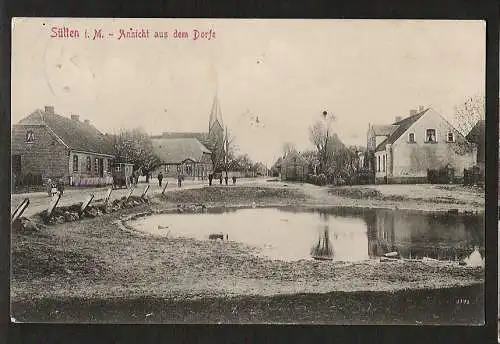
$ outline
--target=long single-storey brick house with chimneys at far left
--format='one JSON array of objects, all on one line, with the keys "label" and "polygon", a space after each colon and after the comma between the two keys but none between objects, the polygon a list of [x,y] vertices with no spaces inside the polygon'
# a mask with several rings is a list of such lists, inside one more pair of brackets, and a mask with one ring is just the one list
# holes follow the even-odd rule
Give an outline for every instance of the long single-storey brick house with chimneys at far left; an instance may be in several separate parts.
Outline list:
[{"label": "long single-storey brick house with chimneys at far left", "polygon": [[19,182],[32,176],[34,184],[47,179],[69,185],[113,182],[112,147],[88,120],[58,115],[53,106],[35,110],[12,127],[12,174]]}]

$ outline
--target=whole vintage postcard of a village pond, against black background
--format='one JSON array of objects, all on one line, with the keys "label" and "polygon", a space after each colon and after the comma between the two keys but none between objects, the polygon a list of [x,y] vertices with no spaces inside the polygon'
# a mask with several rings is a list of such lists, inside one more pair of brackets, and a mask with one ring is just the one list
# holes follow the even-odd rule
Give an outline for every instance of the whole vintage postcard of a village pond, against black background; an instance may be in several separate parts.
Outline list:
[{"label": "whole vintage postcard of a village pond, against black background", "polygon": [[15,322],[482,325],[484,21],[15,18]]}]

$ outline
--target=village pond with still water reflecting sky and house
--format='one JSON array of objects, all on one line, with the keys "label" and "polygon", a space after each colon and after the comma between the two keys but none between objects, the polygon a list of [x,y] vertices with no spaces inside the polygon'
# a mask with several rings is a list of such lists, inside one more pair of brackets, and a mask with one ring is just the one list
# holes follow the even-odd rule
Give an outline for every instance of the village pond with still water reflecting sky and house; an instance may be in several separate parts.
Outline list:
[{"label": "village pond with still water reflecting sky and house", "polygon": [[139,218],[134,228],[159,236],[223,240],[258,248],[270,259],[311,259],[326,241],[329,259],[361,261],[397,251],[403,258],[484,264],[484,216],[382,209],[251,208]]}]

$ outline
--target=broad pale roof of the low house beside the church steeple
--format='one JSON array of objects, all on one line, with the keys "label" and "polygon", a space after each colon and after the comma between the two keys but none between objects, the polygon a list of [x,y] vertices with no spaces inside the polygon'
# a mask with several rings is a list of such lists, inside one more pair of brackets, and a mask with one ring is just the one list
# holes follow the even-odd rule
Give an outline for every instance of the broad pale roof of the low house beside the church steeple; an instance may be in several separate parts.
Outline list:
[{"label": "broad pale roof of the low house beside the church steeple", "polygon": [[186,159],[201,161],[203,154],[211,154],[195,138],[152,138],[153,150],[164,163],[180,164]]}]

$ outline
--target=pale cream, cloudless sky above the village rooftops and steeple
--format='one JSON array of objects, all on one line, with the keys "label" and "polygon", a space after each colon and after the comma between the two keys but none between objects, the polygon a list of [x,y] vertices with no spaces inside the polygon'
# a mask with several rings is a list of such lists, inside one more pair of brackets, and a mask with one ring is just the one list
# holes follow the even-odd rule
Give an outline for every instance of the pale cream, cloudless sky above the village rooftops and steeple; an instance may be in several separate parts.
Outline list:
[{"label": "pale cream, cloudless sky above the village rooftops and steeple", "polygon": [[[313,148],[308,128],[323,111],[345,144],[366,146],[370,123],[419,105],[453,123],[454,107],[485,91],[483,21],[17,18],[12,27],[12,123],[53,105],[102,132],[202,132],[217,94],[239,153],[269,166],[285,142]],[[51,37],[53,27],[79,37]],[[92,39],[96,29],[104,38]],[[120,29],[149,38],[118,39]],[[212,30],[210,40],[194,30]]]}]

